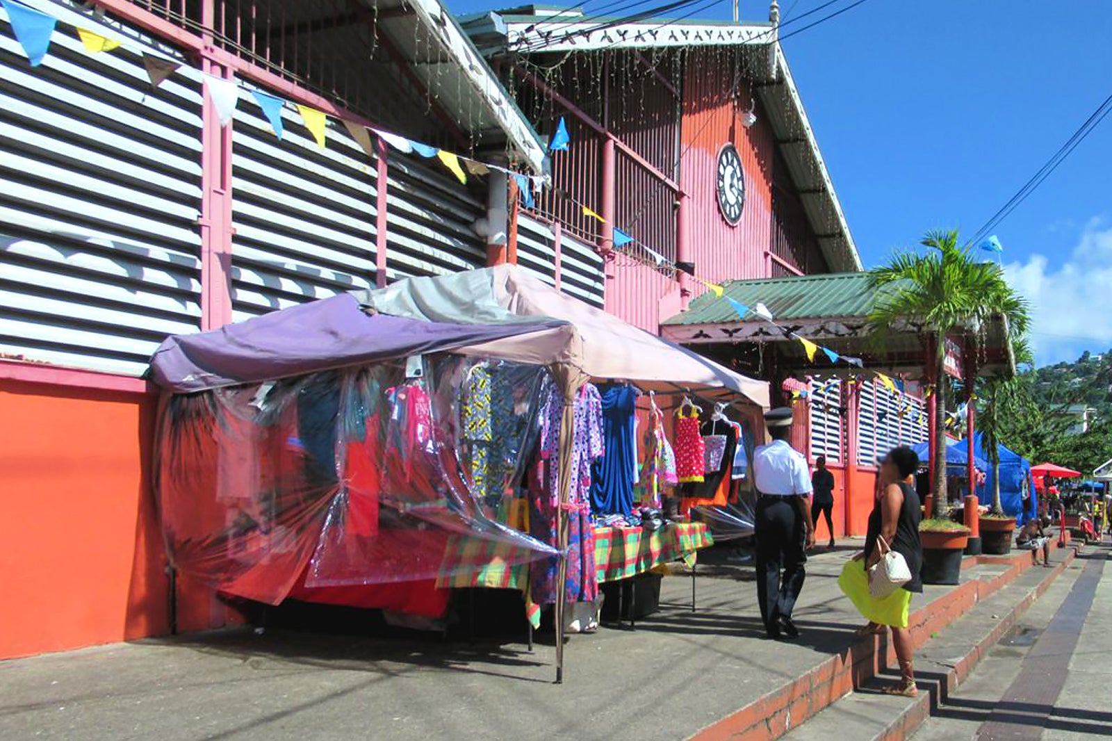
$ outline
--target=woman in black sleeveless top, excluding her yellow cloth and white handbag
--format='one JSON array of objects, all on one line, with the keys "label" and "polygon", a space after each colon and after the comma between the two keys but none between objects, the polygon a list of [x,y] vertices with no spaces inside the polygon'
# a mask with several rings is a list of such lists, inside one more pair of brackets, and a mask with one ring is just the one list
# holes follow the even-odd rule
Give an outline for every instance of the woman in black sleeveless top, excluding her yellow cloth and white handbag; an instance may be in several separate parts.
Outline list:
[{"label": "woman in black sleeveless top, excluding her yellow cloth and white handbag", "polygon": [[[919,494],[912,485],[915,472],[919,470],[919,455],[906,446],[893,448],[881,464],[881,491],[868,515],[868,534],[865,537],[865,550],[858,559],[865,559],[865,569],[880,562],[884,553],[877,547],[877,535],[907,562],[911,581],[897,590],[906,601],[912,592],[922,592],[923,582],[919,572],[923,565],[923,545],[919,537],[919,522],[922,518]],[[906,604],[906,603],[905,603]],[[906,615],[906,610],[904,611]],[[904,621],[901,625],[888,625],[892,629],[892,642],[900,661],[900,673],[903,679],[900,684],[888,690],[894,694],[915,696],[915,674],[912,666],[911,631]],[[862,634],[882,633],[884,625],[868,623],[861,630]]]}]

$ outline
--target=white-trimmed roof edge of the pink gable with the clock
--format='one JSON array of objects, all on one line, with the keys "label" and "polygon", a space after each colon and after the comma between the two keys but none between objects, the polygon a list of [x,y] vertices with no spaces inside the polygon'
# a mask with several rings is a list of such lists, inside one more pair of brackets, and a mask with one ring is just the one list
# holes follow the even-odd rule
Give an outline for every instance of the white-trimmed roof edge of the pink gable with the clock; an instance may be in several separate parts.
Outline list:
[{"label": "white-trimmed roof edge of the pink gable with the clock", "polygon": [[464,16],[460,27],[487,57],[507,53],[566,55],[574,51],[666,50],[736,47],[761,56],[753,82],[784,155],[803,210],[827,263],[835,270],[861,270],[861,256],[834,191],[826,162],[777,41],[774,22],[725,22],[588,16],[580,6],[522,6]]}]

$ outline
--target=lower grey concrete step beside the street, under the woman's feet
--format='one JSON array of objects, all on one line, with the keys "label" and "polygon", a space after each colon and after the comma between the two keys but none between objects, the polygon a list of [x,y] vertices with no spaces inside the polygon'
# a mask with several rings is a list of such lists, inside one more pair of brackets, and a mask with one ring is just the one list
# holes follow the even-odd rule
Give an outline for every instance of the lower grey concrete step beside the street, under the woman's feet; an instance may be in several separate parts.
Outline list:
[{"label": "lower grey concrete step beside the street, under the woman's feet", "polygon": [[[1040,613],[1052,615],[1069,592],[1056,579],[1072,563],[1072,547],[1052,556],[1053,569],[1029,569],[1007,585],[980,600],[946,628],[932,633],[915,652],[917,698],[883,694],[881,689],[898,679],[894,670],[857,686],[857,691],[841,698],[803,724],[782,737],[783,741],[805,741],[821,738],[854,741],[902,741],[911,737],[930,718],[932,705],[944,702],[965,681],[981,659],[1011,631],[1024,613],[1053,586],[1053,592],[1040,602]],[[973,567],[975,571],[976,567]],[[1065,580],[1072,582],[1076,573]],[[920,641],[916,640],[916,645]],[[887,648],[887,646],[885,646]],[[895,666],[891,651],[887,663]]]}]

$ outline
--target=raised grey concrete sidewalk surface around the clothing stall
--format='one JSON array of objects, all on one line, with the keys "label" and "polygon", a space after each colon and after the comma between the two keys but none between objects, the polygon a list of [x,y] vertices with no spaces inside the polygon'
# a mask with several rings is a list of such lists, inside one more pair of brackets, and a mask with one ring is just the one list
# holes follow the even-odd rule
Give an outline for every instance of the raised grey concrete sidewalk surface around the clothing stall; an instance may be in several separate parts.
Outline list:
[{"label": "raised grey concrete sidewalk surface around the clothing stall", "polygon": [[751,566],[701,566],[696,612],[691,581],[666,577],[635,631],[572,636],[563,685],[552,645],[246,629],[0,663],[0,738],[684,739],[847,652],[850,545],[810,560],[794,643],[763,638]]}]

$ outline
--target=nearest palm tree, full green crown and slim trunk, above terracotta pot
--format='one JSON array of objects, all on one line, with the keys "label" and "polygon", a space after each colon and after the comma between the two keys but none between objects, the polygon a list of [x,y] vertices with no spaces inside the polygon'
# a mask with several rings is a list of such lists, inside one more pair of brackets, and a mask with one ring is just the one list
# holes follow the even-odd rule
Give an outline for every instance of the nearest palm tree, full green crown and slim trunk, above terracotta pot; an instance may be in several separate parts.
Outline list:
[{"label": "nearest palm tree, full green crown and slim trunk, above terracotta pot", "polygon": [[870,316],[874,335],[883,342],[890,329],[920,329],[934,338],[934,377],[939,414],[934,423],[934,501],[936,513],[950,511],[946,496],[946,435],[949,386],[945,339],[959,329],[977,332],[1003,317],[1009,339],[1027,329],[1027,306],[994,263],[976,261],[969,246],[957,246],[957,231],[929,231],[920,243],[926,254],[902,251],[870,273],[876,290]]}]

